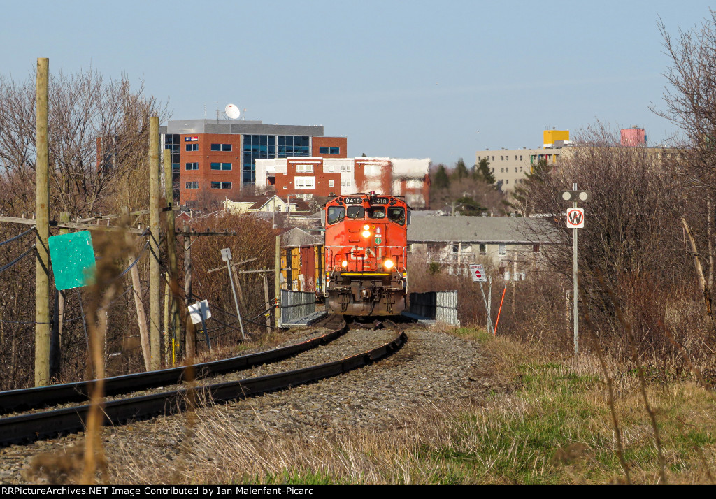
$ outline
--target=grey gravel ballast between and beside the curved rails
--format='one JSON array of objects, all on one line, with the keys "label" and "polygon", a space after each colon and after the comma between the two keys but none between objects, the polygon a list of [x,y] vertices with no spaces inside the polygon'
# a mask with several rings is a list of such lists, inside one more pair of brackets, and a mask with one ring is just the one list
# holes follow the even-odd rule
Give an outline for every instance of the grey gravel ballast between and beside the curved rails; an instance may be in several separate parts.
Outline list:
[{"label": "grey gravel ballast between and beside the curved rails", "polygon": [[[477,342],[424,326],[407,326],[405,332],[407,344],[387,359],[316,383],[231,402],[222,407],[223,418],[243,432],[316,437],[390,427],[407,412],[475,394],[478,388],[470,373],[482,363]],[[211,382],[332,362],[392,341],[396,334],[392,329],[351,329],[339,339],[291,359],[214,377]],[[199,420],[211,418],[213,411],[200,409],[196,415]],[[126,459],[130,452],[139,462],[172,469],[180,447],[178,429],[184,420],[185,415],[175,415],[105,428],[102,440],[107,460],[111,464],[113,456],[120,454]],[[78,434],[0,449],[0,483],[37,483],[37,478],[28,478],[27,473],[35,456],[79,451],[83,443],[84,435]]]}]

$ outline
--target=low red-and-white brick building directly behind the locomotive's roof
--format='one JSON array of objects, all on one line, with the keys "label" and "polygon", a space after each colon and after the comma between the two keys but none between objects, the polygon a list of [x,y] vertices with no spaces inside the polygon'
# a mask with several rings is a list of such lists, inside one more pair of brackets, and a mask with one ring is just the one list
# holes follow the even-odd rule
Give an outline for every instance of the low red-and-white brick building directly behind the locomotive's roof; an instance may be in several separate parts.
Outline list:
[{"label": "low red-and-white brick building directly behind the locomotive's roof", "polygon": [[256,187],[277,195],[315,196],[367,193],[405,196],[412,208],[428,207],[430,159],[281,158],[256,160]]}]

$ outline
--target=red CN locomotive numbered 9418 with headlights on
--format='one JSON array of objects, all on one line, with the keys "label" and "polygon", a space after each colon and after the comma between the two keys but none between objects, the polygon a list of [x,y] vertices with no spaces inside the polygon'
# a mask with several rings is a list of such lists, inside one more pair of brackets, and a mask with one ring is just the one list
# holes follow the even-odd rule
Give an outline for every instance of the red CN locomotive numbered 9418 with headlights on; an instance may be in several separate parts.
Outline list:
[{"label": "red CN locomotive numbered 9418 with headlights on", "polygon": [[410,207],[391,195],[342,195],[325,205],[326,305],[334,314],[397,315],[407,293]]}]

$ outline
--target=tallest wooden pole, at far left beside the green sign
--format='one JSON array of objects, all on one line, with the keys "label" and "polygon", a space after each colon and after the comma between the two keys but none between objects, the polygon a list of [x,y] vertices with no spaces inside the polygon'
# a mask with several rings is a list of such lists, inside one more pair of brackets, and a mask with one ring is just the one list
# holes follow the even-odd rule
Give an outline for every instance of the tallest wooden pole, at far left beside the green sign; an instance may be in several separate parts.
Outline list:
[{"label": "tallest wooden pole, at far left beside the green sign", "polygon": [[49,59],[37,59],[35,386],[49,382]]}]

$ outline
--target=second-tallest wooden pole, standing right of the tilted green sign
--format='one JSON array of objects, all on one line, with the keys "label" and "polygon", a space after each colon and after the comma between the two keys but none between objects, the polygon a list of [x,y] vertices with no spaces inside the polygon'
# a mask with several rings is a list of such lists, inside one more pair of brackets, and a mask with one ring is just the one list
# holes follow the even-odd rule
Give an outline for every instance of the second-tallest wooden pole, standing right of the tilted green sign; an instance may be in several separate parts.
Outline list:
[{"label": "second-tallest wooden pole, standing right of the tilted green sign", "polygon": [[159,118],[149,119],[149,344],[152,370],[161,367],[161,276],[159,266]]}]

